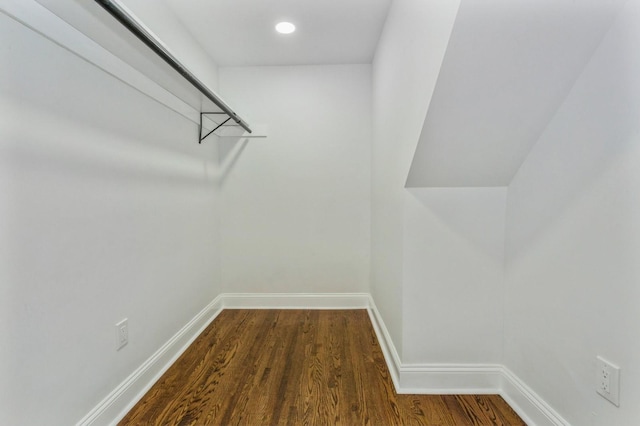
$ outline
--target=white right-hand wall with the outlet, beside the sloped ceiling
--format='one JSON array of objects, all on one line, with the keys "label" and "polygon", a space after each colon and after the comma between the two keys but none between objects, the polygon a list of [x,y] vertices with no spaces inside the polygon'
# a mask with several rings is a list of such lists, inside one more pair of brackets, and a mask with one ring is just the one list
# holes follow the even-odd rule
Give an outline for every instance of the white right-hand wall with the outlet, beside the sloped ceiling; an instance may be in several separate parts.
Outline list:
[{"label": "white right-hand wall with the outlet, beside the sloped ceiling", "polygon": [[628,1],[508,189],[505,364],[575,425],[640,423],[639,20]]}]

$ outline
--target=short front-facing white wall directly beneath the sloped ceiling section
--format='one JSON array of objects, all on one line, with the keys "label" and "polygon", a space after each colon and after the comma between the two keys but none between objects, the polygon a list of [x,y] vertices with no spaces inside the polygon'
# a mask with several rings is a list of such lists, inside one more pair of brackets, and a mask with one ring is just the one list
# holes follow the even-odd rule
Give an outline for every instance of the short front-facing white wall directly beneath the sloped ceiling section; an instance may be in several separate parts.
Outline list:
[{"label": "short front-facing white wall directly beneath the sloped ceiling section", "polygon": [[406,192],[403,362],[502,361],[506,195],[506,188]]}]

